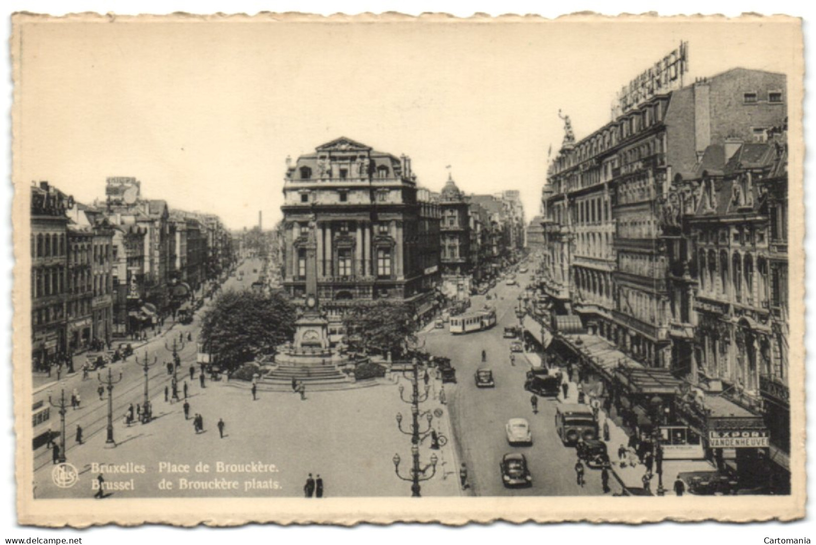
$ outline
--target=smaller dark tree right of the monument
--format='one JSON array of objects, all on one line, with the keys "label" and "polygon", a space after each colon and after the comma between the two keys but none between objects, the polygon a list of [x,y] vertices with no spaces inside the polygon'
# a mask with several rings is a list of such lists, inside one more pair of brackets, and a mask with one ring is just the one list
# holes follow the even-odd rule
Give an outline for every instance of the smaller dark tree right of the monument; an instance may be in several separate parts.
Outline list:
[{"label": "smaller dark tree right of the monument", "polygon": [[406,341],[416,340],[416,321],[409,304],[394,301],[359,302],[344,317],[348,335],[361,346],[378,352],[405,351]]}]

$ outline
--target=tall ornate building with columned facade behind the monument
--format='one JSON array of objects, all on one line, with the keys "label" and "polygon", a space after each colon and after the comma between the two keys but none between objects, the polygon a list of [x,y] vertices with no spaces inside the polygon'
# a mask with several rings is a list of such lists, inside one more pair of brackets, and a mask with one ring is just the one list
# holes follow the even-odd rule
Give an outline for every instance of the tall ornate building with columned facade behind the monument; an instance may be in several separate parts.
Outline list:
[{"label": "tall ornate building with columned facade behind the monument", "polygon": [[341,311],[358,299],[421,306],[430,299],[435,280],[426,277],[438,277],[439,269],[428,262],[433,251],[422,246],[438,241],[419,232],[425,214],[409,157],[338,138],[294,163],[287,159],[283,195],[283,286],[295,301],[306,290],[310,219],[316,222],[317,292],[324,308]]}]

